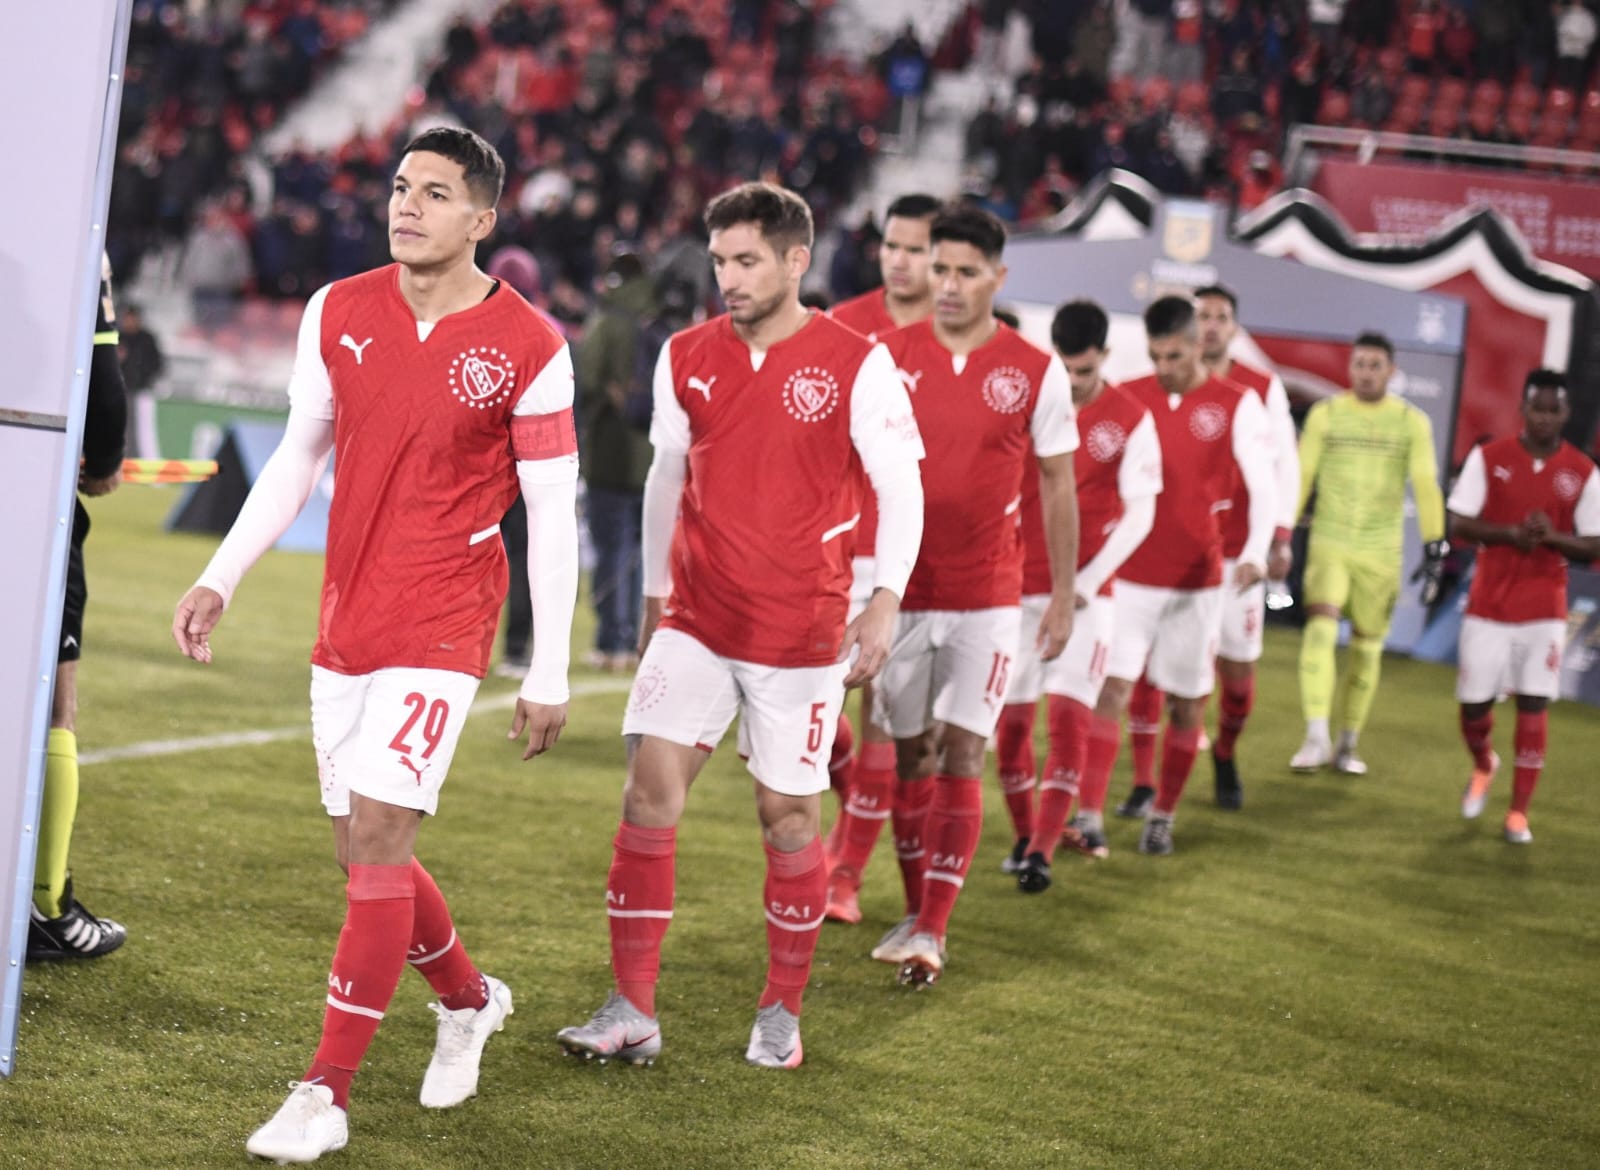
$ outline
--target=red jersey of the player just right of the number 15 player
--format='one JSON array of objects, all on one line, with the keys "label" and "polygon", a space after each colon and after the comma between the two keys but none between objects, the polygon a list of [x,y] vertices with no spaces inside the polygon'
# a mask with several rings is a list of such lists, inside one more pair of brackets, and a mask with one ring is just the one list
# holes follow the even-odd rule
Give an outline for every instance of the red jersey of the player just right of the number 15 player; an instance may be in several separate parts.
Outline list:
[{"label": "red jersey of the player just right of the number 15 player", "polygon": [[[1115,386],[1077,413],[1082,447],[1072,458],[1078,495],[1078,568],[1104,547],[1122,520],[1128,499],[1157,495],[1162,488],[1162,455],[1157,450],[1150,411]],[[1050,549],[1045,544],[1045,511],[1038,503],[1038,475],[1022,477],[1022,594],[1050,592]],[[1110,595],[1115,575],[1099,586]]]}]

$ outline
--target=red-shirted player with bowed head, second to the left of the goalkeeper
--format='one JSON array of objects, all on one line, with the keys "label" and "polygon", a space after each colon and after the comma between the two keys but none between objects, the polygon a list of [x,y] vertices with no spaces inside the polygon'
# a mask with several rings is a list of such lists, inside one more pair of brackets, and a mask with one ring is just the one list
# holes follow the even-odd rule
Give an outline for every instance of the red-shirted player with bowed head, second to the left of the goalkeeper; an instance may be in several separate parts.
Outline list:
[{"label": "red-shirted player with bowed head, second to the left of the goalkeeper", "polygon": [[[1173,815],[1200,747],[1205,701],[1224,592],[1243,592],[1266,573],[1277,499],[1266,408],[1261,399],[1205,368],[1195,306],[1163,296],[1144,311],[1155,375],[1123,389],[1155,418],[1162,440],[1162,495],[1155,527],[1117,575],[1117,637],[1090,727],[1082,799],[1104,800],[1117,760],[1122,712],[1141,674],[1168,695],[1171,719],[1157,791],[1136,787],[1125,802],[1147,805],[1139,851],[1173,851]],[[1242,477],[1250,491],[1250,536],[1222,576],[1222,522]]]}]

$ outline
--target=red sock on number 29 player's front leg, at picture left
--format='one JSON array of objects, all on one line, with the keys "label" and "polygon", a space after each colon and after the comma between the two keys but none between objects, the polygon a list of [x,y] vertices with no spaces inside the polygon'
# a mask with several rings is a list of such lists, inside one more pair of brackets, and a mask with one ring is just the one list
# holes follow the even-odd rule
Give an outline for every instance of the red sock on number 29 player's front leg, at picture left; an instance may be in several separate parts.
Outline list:
[{"label": "red sock on number 29 player's front leg, at picture left", "polygon": [[322,1042],[302,1080],[320,1080],[349,1108],[350,1080],[405,972],[416,887],[411,866],[350,866],[344,928],[328,973]]}]

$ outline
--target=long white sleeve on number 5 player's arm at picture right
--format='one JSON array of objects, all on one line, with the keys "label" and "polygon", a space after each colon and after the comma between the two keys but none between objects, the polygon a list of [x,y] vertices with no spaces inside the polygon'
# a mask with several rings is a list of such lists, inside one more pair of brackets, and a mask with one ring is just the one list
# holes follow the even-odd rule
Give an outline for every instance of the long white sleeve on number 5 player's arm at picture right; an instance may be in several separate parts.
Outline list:
[{"label": "long white sleeve on number 5 player's arm at picture right", "polygon": [[850,440],[878,503],[874,589],[906,595],[922,549],[922,432],[888,349],[874,346],[850,394]]}]

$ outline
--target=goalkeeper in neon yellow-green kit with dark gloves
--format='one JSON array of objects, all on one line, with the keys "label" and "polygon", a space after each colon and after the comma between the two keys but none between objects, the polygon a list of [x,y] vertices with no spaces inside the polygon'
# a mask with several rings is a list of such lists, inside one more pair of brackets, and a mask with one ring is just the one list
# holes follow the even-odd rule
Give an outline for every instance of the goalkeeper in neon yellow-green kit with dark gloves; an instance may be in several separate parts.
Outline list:
[{"label": "goalkeeper in neon yellow-green kit with dark gloves", "polygon": [[[1418,576],[1422,603],[1438,592],[1445,544],[1445,498],[1438,490],[1434,429],[1416,407],[1389,394],[1394,344],[1363,333],[1350,351],[1350,392],[1323,399],[1301,432],[1299,509],[1317,491],[1306,555],[1306,632],[1301,640],[1301,711],[1306,743],[1290,767],[1315,771],[1333,763],[1360,776],[1366,765],[1355,741],[1378,693],[1389,618],[1400,597],[1400,547],[1405,485],[1416,496],[1416,522],[1427,546]],[[1328,730],[1333,714],[1334,647],[1339,616],[1350,621],[1344,675],[1342,730]]]}]

